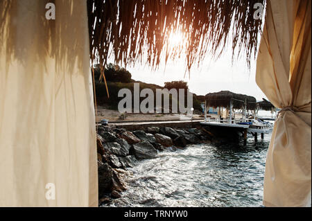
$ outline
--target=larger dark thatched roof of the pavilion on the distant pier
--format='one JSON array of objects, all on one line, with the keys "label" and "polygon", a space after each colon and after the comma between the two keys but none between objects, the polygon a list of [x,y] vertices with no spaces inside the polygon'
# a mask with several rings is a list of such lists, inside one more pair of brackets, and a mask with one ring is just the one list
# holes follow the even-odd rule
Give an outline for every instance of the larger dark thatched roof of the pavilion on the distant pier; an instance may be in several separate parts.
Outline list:
[{"label": "larger dark thatched roof of the pavilion on the distant pier", "polygon": [[229,107],[232,100],[234,109],[242,109],[245,107],[245,100],[247,102],[247,109],[254,110],[256,108],[257,100],[252,96],[245,94],[235,94],[231,91],[219,91],[209,93],[205,96],[206,105],[209,107]]}]

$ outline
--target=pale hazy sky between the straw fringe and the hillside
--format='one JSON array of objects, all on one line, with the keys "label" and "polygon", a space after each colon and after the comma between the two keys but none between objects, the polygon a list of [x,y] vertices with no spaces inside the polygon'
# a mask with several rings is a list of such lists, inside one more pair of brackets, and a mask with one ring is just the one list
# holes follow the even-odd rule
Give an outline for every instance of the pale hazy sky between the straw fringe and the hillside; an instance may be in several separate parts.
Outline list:
[{"label": "pale hazy sky between the straw fringe and the hillside", "polygon": [[256,62],[252,62],[252,69],[249,72],[245,58],[234,62],[233,66],[231,61],[231,53],[225,53],[216,61],[206,58],[200,68],[194,65],[196,67],[191,70],[191,76],[189,77],[187,74],[185,78],[186,66],[183,60],[168,61],[166,69],[162,64],[157,71],[152,71],[150,67],[139,64],[135,67],[127,67],[127,69],[132,74],[132,79],[160,86],[164,86],[164,82],[172,80],[187,81],[190,91],[197,95],[228,90],[254,96],[257,100],[266,98],[255,81]]}]

